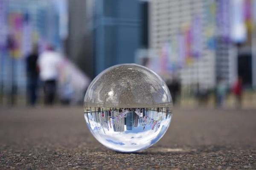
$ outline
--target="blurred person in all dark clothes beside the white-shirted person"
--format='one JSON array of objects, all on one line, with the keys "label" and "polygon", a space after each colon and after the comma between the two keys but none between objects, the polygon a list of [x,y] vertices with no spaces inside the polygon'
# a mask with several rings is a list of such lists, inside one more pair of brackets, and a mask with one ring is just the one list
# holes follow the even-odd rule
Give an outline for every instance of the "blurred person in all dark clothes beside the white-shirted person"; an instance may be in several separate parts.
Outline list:
[{"label": "blurred person in all dark clothes beside the white-shirted person", "polygon": [[34,106],[38,90],[38,46],[34,45],[32,53],[26,58],[27,96],[30,105]]}]

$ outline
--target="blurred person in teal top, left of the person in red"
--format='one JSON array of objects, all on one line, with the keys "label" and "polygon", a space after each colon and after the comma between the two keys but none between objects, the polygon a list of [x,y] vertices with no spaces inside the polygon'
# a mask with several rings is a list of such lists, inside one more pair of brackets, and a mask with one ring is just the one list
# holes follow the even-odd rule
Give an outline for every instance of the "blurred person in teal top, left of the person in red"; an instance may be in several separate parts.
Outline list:
[{"label": "blurred person in teal top, left of the person in red", "polygon": [[218,78],[217,82],[217,105],[218,107],[223,107],[223,102],[225,100],[226,94],[227,94],[227,82],[224,81],[222,77]]}]

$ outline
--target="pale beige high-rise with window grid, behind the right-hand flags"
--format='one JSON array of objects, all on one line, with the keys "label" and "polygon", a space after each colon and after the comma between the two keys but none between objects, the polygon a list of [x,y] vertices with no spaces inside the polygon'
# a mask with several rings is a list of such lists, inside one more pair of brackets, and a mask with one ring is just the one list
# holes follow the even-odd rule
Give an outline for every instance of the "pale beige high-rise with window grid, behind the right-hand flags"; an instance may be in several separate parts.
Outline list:
[{"label": "pale beige high-rise with window grid, behind the right-hand flags", "polygon": [[[204,0],[153,0],[150,5],[150,45],[160,49],[166,40],[177,36],[180,29],[192,22],[193,14],[204,18]],[[204,21],[203,21],[204,22]],[[186,25],[187,24],[187,25]],[[204,44],[205,40],[201,40]],[[181,69],[183,85],[197,83],[213,87],[215,85],[215,53],[202,47],[204,57]]]}]

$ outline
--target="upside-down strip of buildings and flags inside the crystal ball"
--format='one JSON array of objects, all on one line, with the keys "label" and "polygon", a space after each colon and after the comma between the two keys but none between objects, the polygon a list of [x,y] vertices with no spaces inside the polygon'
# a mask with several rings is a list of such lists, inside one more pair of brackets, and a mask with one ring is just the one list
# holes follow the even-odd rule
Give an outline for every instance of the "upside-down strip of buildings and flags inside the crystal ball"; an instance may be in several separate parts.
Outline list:
[{"label": "upside-down strip of buildings and flags inside the crystal ball", "polygon": [[[117,133],[138,133],[159,130],[163,119],[168,119],[169,108],[87,108],[98,130]],[[140,128],[136,130],[137,128]]]}]

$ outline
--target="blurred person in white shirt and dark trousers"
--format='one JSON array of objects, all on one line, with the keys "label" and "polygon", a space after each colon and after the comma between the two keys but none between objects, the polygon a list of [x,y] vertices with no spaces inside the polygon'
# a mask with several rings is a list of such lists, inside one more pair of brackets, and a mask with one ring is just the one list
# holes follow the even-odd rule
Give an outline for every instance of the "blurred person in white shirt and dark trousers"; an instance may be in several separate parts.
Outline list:
[{"label": "blurred person in white shirt and dark trousers", "polygon": [[54,51],[52,46],[49,46],[38,58],[39,77],[44,82],[45,105],[54,103],[61,61],[61,54]]}]

